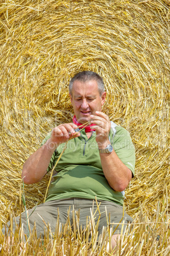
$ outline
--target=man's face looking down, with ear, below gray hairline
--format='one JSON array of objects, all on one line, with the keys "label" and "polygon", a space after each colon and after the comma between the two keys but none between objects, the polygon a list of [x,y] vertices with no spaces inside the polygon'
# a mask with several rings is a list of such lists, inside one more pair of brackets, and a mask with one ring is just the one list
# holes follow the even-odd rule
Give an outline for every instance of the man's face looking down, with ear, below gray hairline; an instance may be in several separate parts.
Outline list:
[{"label": "man's face looking down, with ear, below gray hairline", "polygon": [[77,121],[84,124],[89,121],[90,115],[95,115],[96,111],[101,111],[101,106],[105,103],[105,97],[106,92],[103,92],[100,96],[98,84],[95,80],[89,80],[85,83],[75,80],[70,99]]}]

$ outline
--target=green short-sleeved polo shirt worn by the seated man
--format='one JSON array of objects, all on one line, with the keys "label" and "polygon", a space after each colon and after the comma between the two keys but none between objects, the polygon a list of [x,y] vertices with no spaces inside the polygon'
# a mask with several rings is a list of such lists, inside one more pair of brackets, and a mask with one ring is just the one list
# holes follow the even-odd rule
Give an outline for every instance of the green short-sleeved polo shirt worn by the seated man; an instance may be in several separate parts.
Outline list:
[{"label": "green short-sleeved polo shirt worn by the seated man", "polygon": [[[50,136],[51,134],[42,141],[42,145],[46,143]],[[81,136],[70,139],[67,143],[67,148],[55,167],[57,174],[53,176],[46,201],[71,197],[86,199],[95,199],[96,197],[98,200],[123,204],[124,192],[116,192],[111,188],[103,174],[95,138],[96,132],[93,132],[88,139],[83,129]],[[131,169],[134,176],[134,146],[128,131],[111,122],[109,140],[119,159]],[[53,169],[64,146],[65,143],[56,148],[47,171]]]}]

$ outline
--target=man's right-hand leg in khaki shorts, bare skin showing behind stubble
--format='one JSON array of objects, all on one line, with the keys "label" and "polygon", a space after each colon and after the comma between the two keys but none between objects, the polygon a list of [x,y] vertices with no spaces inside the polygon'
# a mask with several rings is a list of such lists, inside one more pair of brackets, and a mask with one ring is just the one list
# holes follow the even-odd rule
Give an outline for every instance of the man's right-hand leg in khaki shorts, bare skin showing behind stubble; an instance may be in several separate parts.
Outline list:
[{"label": "man's right-hand leg in khaki shorts, bare skin showing behind stubble", "polygon": [[[82,225],[82,228],[86,227],[87,216],[88,220],[93,218],[95,225],[99,220],[98,235],[102,234],[103,227],[110,226],[110,228],[112,228],[111,232],[113,234],[111,244],[113,249],[117,242],[119,242],[120,235],[118,235],[118,233],[121,234],[122,229],[124,232],[126,224],[133,221],[133,219],[128,214],[123,213],[122,206],[116,203],[109,201],[98,201],[98,206],[100,205],[99,208],[96,204],[96,201],[91,199],[74,199],[74,203],[75,210],[80,209],[79,226]],[[91,227],[91,229],[93,229],[93,227]]]}]

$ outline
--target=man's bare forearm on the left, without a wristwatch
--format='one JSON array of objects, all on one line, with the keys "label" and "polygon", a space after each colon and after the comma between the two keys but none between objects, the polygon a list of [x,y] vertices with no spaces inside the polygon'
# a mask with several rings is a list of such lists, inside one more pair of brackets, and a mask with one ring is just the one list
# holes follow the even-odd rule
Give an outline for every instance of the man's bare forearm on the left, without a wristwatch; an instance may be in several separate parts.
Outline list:
[{"label": "man's bare forearm on the left, without a wristwatch", "polygon": [[22,178],[27,184],[36,183],[44,177],[51,157],[57,145],[51,143],[51,139],[30,155],[23,165]]}]

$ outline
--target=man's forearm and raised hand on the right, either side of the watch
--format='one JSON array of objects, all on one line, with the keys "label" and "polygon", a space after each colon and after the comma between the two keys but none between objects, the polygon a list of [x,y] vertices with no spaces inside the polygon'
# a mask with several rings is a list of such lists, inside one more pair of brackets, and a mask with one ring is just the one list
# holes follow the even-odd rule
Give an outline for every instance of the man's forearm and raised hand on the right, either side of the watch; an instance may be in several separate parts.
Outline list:
[{"label": "man's forearm and raised hand on the right, either side of the watch", "polygon": [[[111,128],[108,116],[105,113],[96,111],[96,115],[91,115],[90,117],[91,124],[95,124],[93,129],[96,130],[98,148],[107,148],[110,144],[108,137]],[[100,153],[100,159],[103,173],[110,187],[115,191],[123,191],[132,178],[131,170],[123,164],[114,150],[112,153]]]}]

